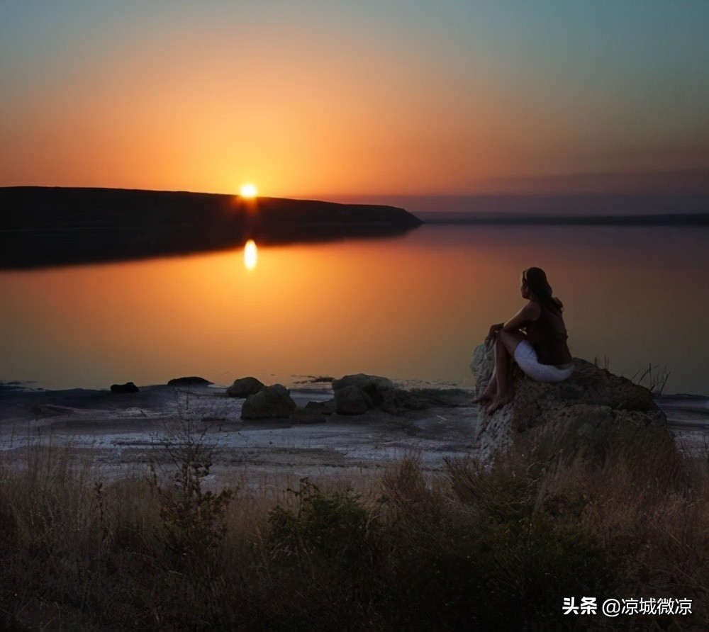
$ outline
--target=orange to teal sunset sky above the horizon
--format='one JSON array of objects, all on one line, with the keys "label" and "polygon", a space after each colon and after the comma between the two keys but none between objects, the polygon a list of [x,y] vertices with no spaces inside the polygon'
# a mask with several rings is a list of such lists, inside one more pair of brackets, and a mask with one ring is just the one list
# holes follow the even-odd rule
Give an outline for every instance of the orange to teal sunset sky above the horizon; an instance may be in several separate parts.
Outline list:
[{"label": "orange to teal sunset sky above the horizon", "polygon": [[709,1],[0,1],[0,186],[709,193]]}]

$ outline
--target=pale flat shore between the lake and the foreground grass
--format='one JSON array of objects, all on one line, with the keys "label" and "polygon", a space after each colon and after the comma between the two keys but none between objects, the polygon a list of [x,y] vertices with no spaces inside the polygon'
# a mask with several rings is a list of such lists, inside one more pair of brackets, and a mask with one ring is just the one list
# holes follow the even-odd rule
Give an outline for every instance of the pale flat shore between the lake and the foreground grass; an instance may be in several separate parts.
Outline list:
[{"label": "pale flat shore between the lake and the foreground grass", "polygon": [[[214,448],[215,483],[239,480],[351,478],[376,473],[404,456],[418,456],[425,470],[440,470],[445,458],[474,458],[479,409],[469,390],[447,391],[449,405],[401,415],[369,411],[332,414],[322,424],[242,422],[243,400],[225,388],[147,386],[139,393],[107,390],[31,391],[3,388],[0,395],[0,458],[23,463],[35,446],[72,446],[89,455],[106,480],[144,474],[151,458],[164,461],[163,443],[180,425],[206,431]],[[291,391],[298,405],[333,397],[329,388]],[[709,445],[706,398],[664,398],[679,446],[700,454]]]}]

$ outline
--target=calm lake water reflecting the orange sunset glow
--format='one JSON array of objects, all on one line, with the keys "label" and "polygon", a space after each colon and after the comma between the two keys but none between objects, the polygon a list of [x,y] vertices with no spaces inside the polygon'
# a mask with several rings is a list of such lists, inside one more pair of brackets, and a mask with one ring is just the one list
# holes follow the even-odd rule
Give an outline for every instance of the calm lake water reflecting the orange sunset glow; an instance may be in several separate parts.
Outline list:
[{"label": "calm lake water reflecting the orange sunset glow", "polygon": [[424,226],[406,237],[0,274],[0,379],[107,388],[364,371],[471,385],[469,357],[547,270],[575,356],[709,395],[709,231]]}]

